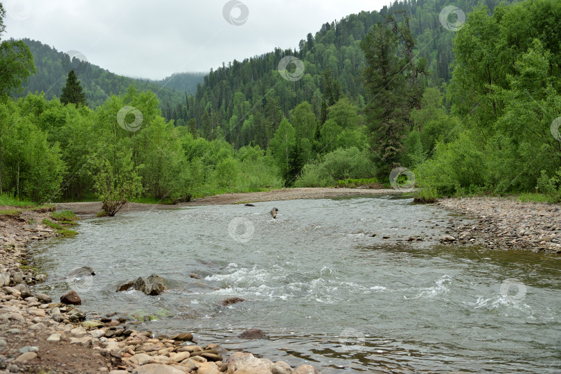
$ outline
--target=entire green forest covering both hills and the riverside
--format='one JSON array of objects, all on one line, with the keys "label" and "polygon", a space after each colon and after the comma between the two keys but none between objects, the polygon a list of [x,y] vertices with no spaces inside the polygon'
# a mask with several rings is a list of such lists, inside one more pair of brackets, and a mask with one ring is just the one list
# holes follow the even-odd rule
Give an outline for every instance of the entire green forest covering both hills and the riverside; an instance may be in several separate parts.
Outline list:
[{"label": "entire green forest covering both hills and the riverside", "polygon": [[558,0],[395,1],[323,24],[298,51],[161,81],[2,40],[0,193],[112,213],[130,199],[387,183],[399,167],[427,201],[560,202],[560,40]]}]

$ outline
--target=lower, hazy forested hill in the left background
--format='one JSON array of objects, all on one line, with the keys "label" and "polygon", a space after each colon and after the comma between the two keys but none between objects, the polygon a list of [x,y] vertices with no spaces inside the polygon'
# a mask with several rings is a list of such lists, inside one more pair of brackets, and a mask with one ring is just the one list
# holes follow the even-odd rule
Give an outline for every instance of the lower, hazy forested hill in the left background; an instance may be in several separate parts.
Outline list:
[{"label": "lower, hazy forested hill in the left background", "polygon": [[[23,41],[33,53],[37,72],[28,78],[23,90],[15,97],[25,96],[28,92],[44,92],[49,99],[60,97],[66,75],[74,69],[91,108],[102,105],[110,94],[126,92],[131,84],[142,91],[152,90],[157,94],[161,107],[168,107],[183,102],[185,94],[195,94],[197,84],[204,76],[203,73],[177,73],[163,80],[128,78],[90,64],[78,51],[69,51],[73,53],[70,56],[36,40]],[[71,60],[71,57],[74,58]]]}]

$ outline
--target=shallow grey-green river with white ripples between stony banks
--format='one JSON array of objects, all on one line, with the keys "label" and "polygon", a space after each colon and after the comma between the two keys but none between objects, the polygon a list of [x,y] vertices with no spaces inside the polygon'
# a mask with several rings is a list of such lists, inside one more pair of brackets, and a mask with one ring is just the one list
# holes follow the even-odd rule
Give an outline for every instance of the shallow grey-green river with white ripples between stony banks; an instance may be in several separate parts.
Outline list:
[{"label": "shallow grey-green river with white ripples between stony banks", "polygon": [[[36,288],[73,287],[89,314],[150,315],[137,327],[322,373],[561,372],[560,256],[441,246],[470,220],[411,199],[255,205],[82,220],[75,238],[33,245],[49,276]],[[67,278],[82,266],[96,276]],[[152,273],[168,292],[115,292]],[[229,297],[246,301],[222,306]],[[268,337],[238,338],[247,328]]]}]

